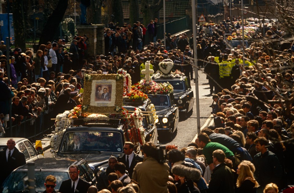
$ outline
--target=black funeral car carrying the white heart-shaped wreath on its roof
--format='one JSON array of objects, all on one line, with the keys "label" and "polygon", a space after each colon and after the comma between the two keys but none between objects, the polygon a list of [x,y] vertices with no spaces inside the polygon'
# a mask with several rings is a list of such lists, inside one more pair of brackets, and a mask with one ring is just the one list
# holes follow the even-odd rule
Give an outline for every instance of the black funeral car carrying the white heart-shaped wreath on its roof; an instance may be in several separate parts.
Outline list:
[{"label": "black funeral car carrying the white heart-shaped wreath on its roof", "polygon": [[186,76],[180,77],[153,77],[156,83],[170,83],[173,88],[173,94],[175,97],[175,104],[179,107],[179,112],[181,116],[187,118],[188,112],[193,111],[194,105],[194,92],[188,83],[188,78]]}]

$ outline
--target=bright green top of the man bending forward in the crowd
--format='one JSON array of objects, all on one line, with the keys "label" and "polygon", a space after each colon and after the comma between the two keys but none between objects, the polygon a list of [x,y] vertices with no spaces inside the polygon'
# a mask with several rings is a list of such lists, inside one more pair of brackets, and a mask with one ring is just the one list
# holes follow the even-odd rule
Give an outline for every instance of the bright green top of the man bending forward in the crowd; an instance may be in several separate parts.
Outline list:
[{"label": "bright green top of the man bending forward in the crowd", "polygon": [[234,153],[226,146],[216,142],[208,142],[203,148],[203,155],[205,156],[208,165],[213,163],[212,153],[217,149],[223,150],[227,158],[234,156]]}]

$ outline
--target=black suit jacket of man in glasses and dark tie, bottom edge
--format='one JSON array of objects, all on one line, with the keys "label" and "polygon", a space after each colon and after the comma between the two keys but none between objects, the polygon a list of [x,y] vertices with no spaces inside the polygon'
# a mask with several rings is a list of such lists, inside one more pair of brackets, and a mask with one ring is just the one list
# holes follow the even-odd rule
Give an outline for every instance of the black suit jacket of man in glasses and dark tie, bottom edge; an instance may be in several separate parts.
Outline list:
[{"label": "black suit jacket of man in glasses and dark tie, bottom edge", "polygon": [[[79,182],[77,183],[77,188],[75,190],[78,190],[78,193],[87,193],[88,188],[90,186],[91,185],[88,182],[86,182],[85,180],[80,178]],[[72,190],[71,179],[68,179],[68,180],[64,180],[61,183],[61,186],[60,186],[58,192],[74,193],[74,192],[71,192],[71,190]],[[75,191],[75,193],[77,193],[77,191]]]}]

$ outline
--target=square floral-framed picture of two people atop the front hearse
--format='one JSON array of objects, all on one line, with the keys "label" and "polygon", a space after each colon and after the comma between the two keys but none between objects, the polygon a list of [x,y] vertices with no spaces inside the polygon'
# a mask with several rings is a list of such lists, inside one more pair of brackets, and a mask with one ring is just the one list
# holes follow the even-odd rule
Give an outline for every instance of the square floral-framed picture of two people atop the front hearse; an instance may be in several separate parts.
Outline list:
[{"label": "square floral-framed picture of two people atop the front hearse", "polygon": [[[86,74],[84,78],[83,112],[116,114],[123,106],[123,78],[116,74]],[[85,110],[84,110],[85,109]]]}]

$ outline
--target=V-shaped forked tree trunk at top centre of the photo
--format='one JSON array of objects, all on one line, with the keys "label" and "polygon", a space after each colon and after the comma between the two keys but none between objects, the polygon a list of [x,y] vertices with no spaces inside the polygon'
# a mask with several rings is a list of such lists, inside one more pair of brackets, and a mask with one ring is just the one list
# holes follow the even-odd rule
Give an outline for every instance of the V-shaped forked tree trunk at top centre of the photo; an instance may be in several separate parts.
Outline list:
[{"label": "V-shaped forked tree trunk at top centre of the photo", "polygon": [[148,25],[153,20],[154,15],[163,7],[164,0],[153,0],[152,5],[149,0],[141,0],[141,11],[143,13],[143,25]]}]

